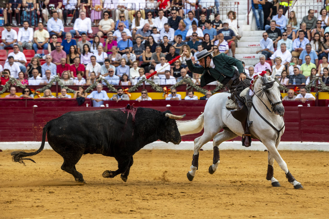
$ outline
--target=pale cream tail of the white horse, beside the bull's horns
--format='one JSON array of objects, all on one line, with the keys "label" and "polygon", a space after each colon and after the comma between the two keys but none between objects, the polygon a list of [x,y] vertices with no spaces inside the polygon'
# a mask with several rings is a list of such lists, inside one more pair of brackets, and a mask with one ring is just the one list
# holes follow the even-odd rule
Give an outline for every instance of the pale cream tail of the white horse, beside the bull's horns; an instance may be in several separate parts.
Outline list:
[{"label": "pale cream tail of the white horse, beside the bull's horns", "polygon": [[195,120],[176,120],[176,123],[181,136],[199,133],[203,129],[203,114],[198,116]]}]

